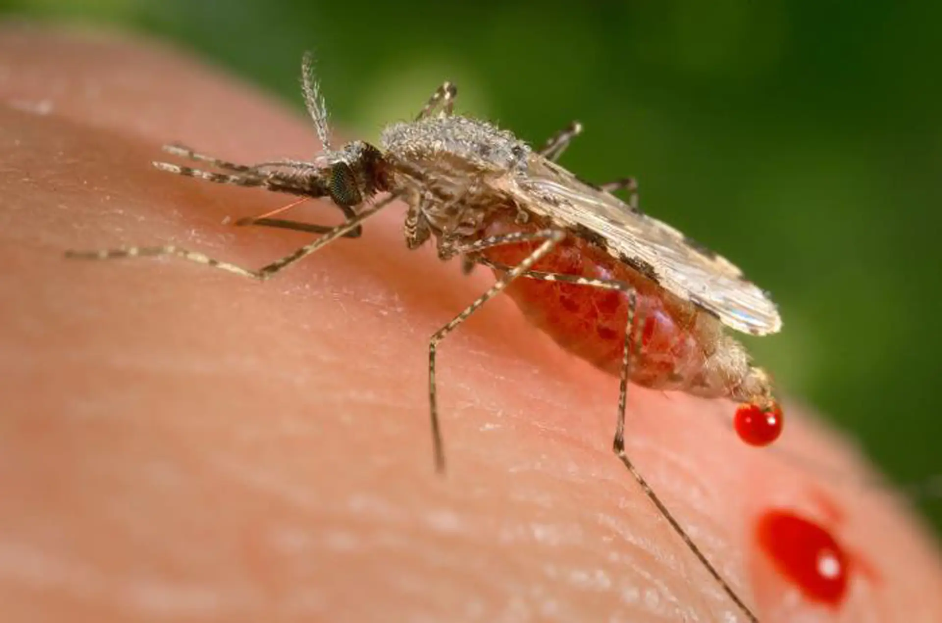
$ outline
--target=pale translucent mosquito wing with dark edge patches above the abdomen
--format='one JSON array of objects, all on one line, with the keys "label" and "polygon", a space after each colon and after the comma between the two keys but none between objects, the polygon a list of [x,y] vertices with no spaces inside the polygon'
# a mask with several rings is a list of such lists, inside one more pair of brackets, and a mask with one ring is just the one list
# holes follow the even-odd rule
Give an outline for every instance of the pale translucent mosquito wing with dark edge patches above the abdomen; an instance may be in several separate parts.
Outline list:
[{"label": "pale translucent mosquito wing with dark edge patches above the abdomen", "polygon": [[562,227],[589,229],[605,241],[609,254],[643,267],[660,287],[726,326],[756,336],[782,328],[775,303],[732,262],[544,157],[530,155],[526,172],[496,184],[520,205]]}]

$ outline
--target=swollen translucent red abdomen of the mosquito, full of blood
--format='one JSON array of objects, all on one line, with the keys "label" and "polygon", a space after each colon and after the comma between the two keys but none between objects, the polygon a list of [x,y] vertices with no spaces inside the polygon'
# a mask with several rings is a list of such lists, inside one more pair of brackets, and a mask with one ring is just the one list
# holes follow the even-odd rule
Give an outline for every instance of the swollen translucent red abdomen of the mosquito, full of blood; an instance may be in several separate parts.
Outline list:
[{"label": "swollen translucent red abdomen of the mosquito, full of blood", "polygon": [[[520,229],[498,222],[487,234]],[[488,249],[482,255],[503,265],[516,266],[537,246],[539,243],[505,245]],[[702,340],[693,331],[698,312],[689,303],[574,236],[562,240],[533,270],[631,284],[637,300],[632,334],[641,336],[641,349],[632,344],[631,381],[657,389],[688,389],[697,385],[707,354]],[[525,277],[514,281],[506,292],[528,320],[562,348],[600,369],[620,373],[628,315],[625,292]]]}]

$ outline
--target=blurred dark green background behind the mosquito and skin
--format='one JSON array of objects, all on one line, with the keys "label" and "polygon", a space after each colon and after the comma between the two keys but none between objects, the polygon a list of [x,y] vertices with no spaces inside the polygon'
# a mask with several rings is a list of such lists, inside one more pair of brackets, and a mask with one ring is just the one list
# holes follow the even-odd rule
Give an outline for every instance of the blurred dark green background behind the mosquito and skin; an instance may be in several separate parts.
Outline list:
[{"label": "blurred dark green background behind the mosquito and skin", "polygon": [[[459,109],[563,163],[635,175],[642,207],[771,289],[750,341],[899,482],[942,472],[942,3],[926,0],[0,0],[4,13],[178,41],[375,138],[443,79]],[[936,398],[938,396],[936,395]],[[923,509],[942,529],[942,502]]]}]

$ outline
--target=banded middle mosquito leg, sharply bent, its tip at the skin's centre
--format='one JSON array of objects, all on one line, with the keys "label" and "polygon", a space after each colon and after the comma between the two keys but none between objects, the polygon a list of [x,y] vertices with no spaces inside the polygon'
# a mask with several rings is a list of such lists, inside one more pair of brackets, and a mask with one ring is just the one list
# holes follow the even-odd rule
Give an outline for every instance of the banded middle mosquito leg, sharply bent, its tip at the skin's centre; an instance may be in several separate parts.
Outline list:
[{"label": "banded middle mosquito leg, sharply bent, its tip at the skin's centre", "polygon": [[453,251],[453,254],[474,254],[483,251],[484,249],[489,249],[502,244],[534,241],[542,242],[540,246],[533,250],[531,254],[528,254],[528,256],[525,257],[523,261],[520,262],[520,264],[512,267],[510,271],[507,271],[504,275],[497,279],[492,287],[488,288],[488,290],[481,294],[473,303],[465,307],[462,313],[460,313],[430,337],[429,404],[431,437],[432,447],[435,454],[435,468],[440,473],[445,472],[445,446],[442,442],[442,432],[438,420],[438,398],[435,388],[435,353],[438,350],[438,343],[441,342],[445,336],[454,331],[464,320],[467,320],[469,316],[478,311],[482,304],[487,303],[490,299],[494,298],[496,294],[500,293],[505,287],[508,286],[508,284],[519,277],[522,272],[528,271],[529,268],[533,266],[534,262],[538,261],[545,254],[552,251],[553,247],[555,247],[562,238],[565,238],[565,236],[565,232],[559,229],[544,229],[537,232],[514,232],[512,234],[502,234],[500,236],[483,238],[470,244],[460,245],[454,249],[449,250]]}]

